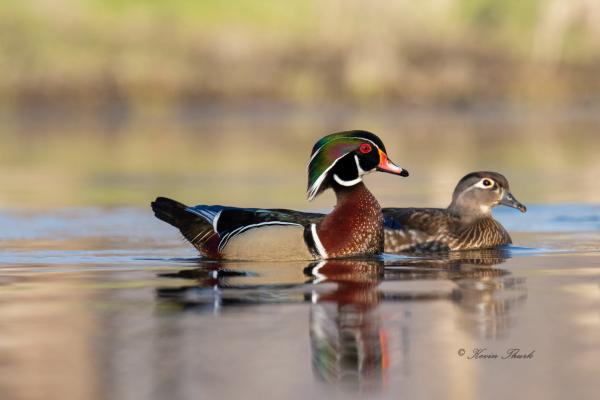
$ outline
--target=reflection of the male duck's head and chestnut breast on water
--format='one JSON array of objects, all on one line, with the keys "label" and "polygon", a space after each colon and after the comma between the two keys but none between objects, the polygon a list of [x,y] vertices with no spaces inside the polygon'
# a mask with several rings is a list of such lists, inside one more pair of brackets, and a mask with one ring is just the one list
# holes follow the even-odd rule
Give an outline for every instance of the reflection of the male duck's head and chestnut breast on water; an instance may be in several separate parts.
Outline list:
[{"label": "reflection of the male duck's head and chestnut breast on water", "polygon": [[389,332],[378,309],[383,262],[322,261],[308,270],[317,281],[336,285],[311,296],[315,376],[353,391],[377,391],[387,380],[390,362]]}]

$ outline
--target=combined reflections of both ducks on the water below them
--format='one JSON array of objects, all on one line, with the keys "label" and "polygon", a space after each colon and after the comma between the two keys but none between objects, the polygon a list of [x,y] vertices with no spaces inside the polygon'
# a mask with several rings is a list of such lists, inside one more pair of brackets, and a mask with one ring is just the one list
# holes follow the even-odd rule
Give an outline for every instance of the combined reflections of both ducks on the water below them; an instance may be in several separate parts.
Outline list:
[{"label": "combined reflections of both ducks on the water below them", "polygon": [[512,311],[527,297],[523,280],[496,267],[508,256],[505,250],[478,250],[309,266],[203,263],[163,274],[195,283],[160,288],[157,295],[170,312],[221,313],[243,305],[310,303],[309,337],[317,379],[351,391],[377,392],[386,386],[391,366],[410,370],[415,303],[451,302],[459,308],[453,313],[458,318],[455,325],[474,340],[507,334]]}]

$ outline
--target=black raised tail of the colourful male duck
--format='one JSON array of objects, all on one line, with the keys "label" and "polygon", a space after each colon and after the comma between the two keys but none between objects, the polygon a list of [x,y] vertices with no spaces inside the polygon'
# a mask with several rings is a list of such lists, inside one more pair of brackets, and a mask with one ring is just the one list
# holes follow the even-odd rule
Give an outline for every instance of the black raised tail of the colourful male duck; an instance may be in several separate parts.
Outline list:
[{"label": "black raised tail of the colourful male duck", "polygon": [[183,236],[196,247],[201,247],[203,239],[207,239],[213,231],[210,221],[190,212],[185,204],[178,201],[158,197],[151,206],[156,218],[179,228]]}]

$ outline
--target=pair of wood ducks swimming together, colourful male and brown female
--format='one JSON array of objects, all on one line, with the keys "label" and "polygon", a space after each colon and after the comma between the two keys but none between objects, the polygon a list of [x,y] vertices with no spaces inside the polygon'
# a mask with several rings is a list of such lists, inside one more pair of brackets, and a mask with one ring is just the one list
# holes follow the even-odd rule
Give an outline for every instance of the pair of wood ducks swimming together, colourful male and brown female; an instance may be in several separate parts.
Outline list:
[{"label": "pair of wood ducks swimming together, colourful male and brown female", "polygon": [[362,182],[363,175],[373,171],[408,176],[388,159],[376,135],[366,131],[334,133],[314,145],[308,165],[308,199],[328,188],[336,194],[336,206],[327,215],[284,209],[188,207],[164,197],[157,198],[152,209],[159,219],[179,228],[203,256],[246,260],[491,248],[511,243],[508,233],[492,218],[492,207],[503,204],[525,211],[510,193],[507,180],[493,172],[476,172],[461,179],[447,209],[382,210]]}]

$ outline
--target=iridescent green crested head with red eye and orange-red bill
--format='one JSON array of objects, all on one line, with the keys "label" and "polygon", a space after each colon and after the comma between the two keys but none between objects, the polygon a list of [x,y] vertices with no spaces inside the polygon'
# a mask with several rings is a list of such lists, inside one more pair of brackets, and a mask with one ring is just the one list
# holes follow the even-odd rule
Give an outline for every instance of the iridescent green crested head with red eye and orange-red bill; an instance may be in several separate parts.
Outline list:
[{"label": "iridescent green crested head with red eye and orange-red bill", "polygon": [[308,199],[334,184],[353,186],[373,171],[408,176],[392,163],[381,139],[367,131],[332,133],[313,146],[308,163]]}]

